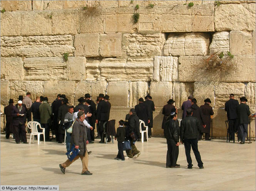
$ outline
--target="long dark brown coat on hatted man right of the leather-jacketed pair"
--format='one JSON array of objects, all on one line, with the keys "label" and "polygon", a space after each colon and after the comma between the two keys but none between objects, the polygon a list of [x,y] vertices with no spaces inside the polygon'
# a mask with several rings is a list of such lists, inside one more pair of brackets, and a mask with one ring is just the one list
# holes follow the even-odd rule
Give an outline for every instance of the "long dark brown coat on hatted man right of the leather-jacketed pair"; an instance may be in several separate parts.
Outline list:
[{"label": "long dark brown coat on hatted man right of the leather-jacketed pair", "polygon": [[211,129],[211,115],[214,114],[212,107],[209,104],[204,104],[200,106],[200,109],[202,111],[201,117],[202,117],[202,123],[203,125],[206,125],[205,128],[202,128],[202,133],[210,133]]}]

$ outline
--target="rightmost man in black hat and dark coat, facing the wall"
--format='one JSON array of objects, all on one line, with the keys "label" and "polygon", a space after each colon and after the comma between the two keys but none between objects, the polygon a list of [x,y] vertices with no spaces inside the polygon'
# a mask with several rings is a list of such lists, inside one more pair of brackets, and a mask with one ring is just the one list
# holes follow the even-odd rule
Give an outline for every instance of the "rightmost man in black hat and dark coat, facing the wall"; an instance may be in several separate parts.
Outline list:
[{"label": "rightmost man in black hat and dark coat, facing the wall", "polygon": [[251,114],[250,108],[246,105],[246,97],[240,97],[240,104],[237,106],[238,124],[239,124],[239,135],[241,142],[244,144],[245,138],[248,135],[248,123],[250,122],[249,116]]}]

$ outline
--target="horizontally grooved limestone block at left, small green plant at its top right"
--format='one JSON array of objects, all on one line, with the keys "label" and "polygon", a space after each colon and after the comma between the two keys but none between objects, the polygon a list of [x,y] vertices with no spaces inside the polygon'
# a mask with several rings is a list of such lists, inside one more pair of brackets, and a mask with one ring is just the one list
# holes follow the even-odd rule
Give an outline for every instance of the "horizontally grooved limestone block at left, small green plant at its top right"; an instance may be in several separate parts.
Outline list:
[{"label": "horizontally grooved limestone block at left, small green plant at its top right", "polygon": [[25,58],[24,67],[27,80],[67,79],[67,63],[63,58]]}]

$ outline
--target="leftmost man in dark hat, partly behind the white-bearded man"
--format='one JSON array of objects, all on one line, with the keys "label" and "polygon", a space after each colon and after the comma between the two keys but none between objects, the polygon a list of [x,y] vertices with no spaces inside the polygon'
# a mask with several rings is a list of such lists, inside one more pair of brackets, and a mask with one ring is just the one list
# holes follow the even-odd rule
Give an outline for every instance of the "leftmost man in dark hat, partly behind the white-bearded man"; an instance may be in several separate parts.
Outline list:
[{"label": "leftmost man in dark hat, partly behind the white-bearded man", "polygon": [[6,119],[6,124],[5,124],[5,138],[10,137],[10,133],[13,132],[13,127],[12,127],[12,110],[13,110],[13,99],[9,100],[9,105],[7,105],[4,108],[4,113],[5,113],[5,119]]}]

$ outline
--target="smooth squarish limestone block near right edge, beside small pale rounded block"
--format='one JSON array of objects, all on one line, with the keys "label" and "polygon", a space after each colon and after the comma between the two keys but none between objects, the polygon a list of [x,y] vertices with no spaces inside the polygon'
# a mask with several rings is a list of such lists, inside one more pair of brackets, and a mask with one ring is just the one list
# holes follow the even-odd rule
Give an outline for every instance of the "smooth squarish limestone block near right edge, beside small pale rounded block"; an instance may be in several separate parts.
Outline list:
[{"label": "smooth squarish limestone block near right edge, beside small pale rounded block", "polygon": [[252,55],[253,37],[251,32],[230,31],[230,53],[234,55]]}]

